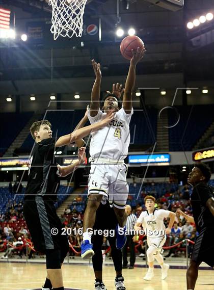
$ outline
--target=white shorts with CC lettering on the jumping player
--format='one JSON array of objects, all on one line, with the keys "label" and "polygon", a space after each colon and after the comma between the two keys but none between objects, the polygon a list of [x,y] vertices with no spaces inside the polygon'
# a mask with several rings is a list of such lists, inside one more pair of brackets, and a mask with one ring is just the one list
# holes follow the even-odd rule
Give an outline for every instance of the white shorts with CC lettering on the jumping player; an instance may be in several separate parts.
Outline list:
[{"label": "white shorts with CC lettering on the jumping player", "polygon": [[88,182],[88,195],[98,193],[103,195],[102,203],[109,200],[111,206],[124,209],[128,198],[126,181],[127,165],[91,162]]}]

